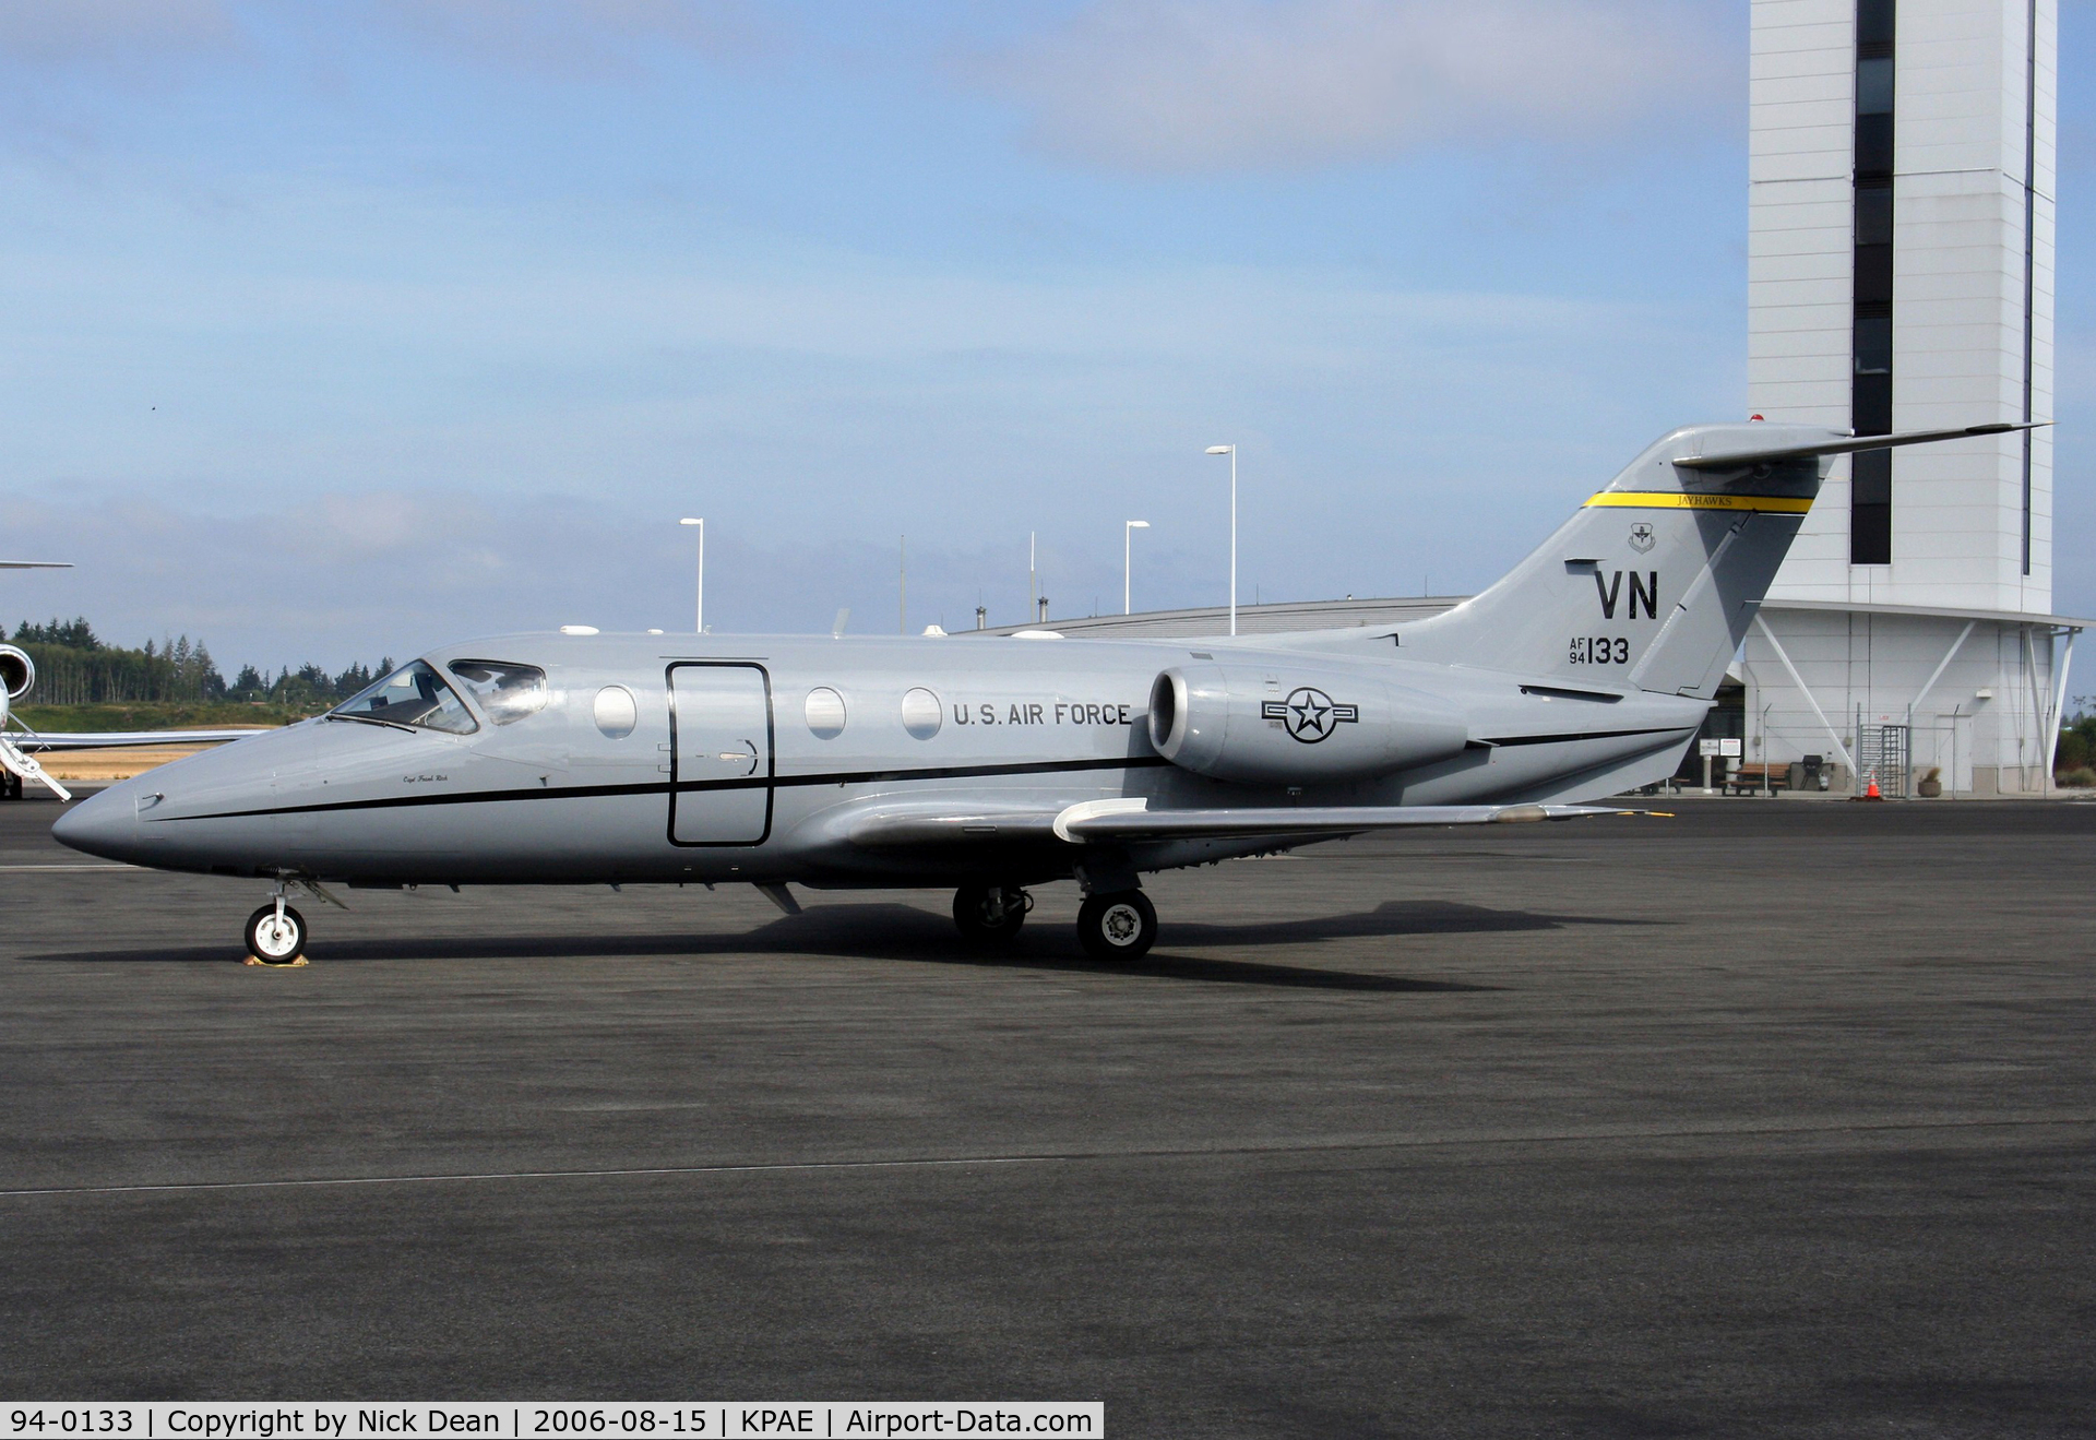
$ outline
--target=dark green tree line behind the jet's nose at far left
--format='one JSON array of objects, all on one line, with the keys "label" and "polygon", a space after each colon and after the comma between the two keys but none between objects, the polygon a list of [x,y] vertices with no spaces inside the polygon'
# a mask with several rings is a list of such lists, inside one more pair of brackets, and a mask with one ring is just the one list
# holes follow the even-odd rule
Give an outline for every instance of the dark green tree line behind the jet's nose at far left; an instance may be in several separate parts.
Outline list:
[{"label": "dark green tree line behind the jet's nose at far left", "polygon": [[348,700],[358,690],[394,669],[392,656],[377,669],[352,664],[329,675],[306,662],[296,671],[285,667],[275,679],[268,671],[243,664],[226,683],[205,643],[189,635],[149,639],[138,650],[109,646],[96,637],[86,616],[71,620],[23,620],[13,643],[36,662],[38,704],[130,704],[140,700],[268,700],[300,708],[327,708]]}]

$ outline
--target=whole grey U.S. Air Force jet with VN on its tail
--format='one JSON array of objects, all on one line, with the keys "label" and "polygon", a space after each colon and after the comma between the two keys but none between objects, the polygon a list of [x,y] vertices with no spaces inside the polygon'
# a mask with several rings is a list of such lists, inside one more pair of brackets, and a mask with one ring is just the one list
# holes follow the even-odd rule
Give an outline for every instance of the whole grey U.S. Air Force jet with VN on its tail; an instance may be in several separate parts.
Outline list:
[{"label": "whole grey U.S. Air Force jet with VN on its tail", "polygon": [[2002,434],[1662,436],[1490,589],[1258,639],[503,635],[327,715],[115,784],[52,834],[291,889],[952,887],[979,941],[1075,880],[1132,960],[1144,872],[1394,826],[1601,815],[1671,776],[1834,455]]}]

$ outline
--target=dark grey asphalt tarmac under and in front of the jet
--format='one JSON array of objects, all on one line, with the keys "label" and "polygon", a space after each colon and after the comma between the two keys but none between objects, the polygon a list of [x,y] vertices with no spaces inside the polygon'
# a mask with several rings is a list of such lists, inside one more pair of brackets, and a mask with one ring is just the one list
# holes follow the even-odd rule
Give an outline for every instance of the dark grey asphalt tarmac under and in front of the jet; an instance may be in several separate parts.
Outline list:
[{"label": "dark grey asphalt tarmac under and in front of the jet", "polygon": [[2096,1432],[2096,805],[1683,801],[947,895],[352,893],[0,807],[6,1398]]}]

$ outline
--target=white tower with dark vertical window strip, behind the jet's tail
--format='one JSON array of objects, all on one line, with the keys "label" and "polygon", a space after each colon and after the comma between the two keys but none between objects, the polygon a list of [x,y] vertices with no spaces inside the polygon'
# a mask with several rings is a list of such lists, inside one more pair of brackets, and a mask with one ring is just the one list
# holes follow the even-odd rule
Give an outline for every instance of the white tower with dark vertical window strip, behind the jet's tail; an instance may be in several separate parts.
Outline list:
[{"label": "white tower with dark vertical window strip, behind the jet's tail", "polygon": [[[2052,417],[2056,36],[2054,0],[1754,0],[1752,413]],[[1748,759],[2046,788],[2052,539],[2050,430],[1840,461],[1742,654]]]}]

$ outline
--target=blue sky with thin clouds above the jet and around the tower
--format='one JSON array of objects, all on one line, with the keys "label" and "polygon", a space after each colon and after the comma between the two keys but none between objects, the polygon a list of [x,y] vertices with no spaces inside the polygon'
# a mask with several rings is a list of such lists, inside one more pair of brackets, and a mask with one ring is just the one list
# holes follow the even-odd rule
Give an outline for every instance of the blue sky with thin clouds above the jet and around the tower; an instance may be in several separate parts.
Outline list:
[{"label": "blue sky with thin clouds above the jet and around the tower", "polygon": [[[2096,612],[2062,13],[2056,606]],[[0,0],[0,614],[224,667],[1467,591],[1744,407],[1746,4]],[[1694,80],[1685,82],[1683,75]]]}]

